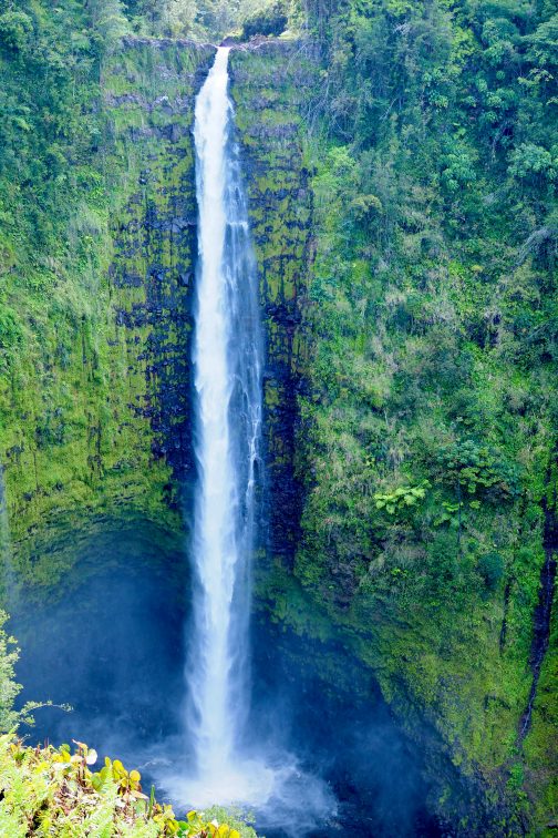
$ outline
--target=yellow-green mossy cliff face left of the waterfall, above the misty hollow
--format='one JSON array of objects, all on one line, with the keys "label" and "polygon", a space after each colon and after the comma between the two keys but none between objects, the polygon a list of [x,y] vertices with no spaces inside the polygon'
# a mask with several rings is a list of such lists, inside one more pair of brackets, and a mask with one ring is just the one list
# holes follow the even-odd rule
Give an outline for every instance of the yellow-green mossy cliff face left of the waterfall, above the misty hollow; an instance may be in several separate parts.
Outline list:
[{"label": "yellow-green mossy cliff face left of the waterfall, above the misty hollow", "polygon": [[[125,40],[105,62],[95,188],[69,246],[85,254],[33,319],[0,381],[13,561],[54,585],[75,539],[137,517],[182,529],[192,470],[189,334],[196,203],[194,99],[214,49]],[[80,254],[81,255],[81,254]]]}]

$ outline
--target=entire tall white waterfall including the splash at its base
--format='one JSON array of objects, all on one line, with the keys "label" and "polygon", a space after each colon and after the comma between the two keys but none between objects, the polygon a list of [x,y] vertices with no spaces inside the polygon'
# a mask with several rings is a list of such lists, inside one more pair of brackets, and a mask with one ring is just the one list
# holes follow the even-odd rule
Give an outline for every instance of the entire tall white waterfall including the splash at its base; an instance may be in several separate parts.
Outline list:
[{"label": "entire tall white waterfall including the splash at its base", "polygon": [[[335,801],[277,744],[249,742],[251,555],[261,480],[264,349],[258,277],[242,188],[228,48],[195,111],[198,268],[193,348],[195,452],[186,739],[193,758],[165,770],[172,799],[254,807],[265,826],[303,836]],[[289,826],[291,825],[291,826]],[[308,828],[307,828],[308,827]]]}]

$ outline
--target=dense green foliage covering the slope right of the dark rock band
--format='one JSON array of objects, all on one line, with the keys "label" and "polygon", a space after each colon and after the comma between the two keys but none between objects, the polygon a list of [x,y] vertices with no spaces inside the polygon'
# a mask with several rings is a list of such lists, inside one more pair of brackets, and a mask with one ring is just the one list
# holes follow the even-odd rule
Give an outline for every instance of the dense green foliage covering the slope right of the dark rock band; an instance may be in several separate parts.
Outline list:
[{"label": "dense green foliage covering the slope right of the dark rock band", "polygon": [[[489,771],[521,760],[503,730],[528,701],[556,513],[558,16],[349,0],[310,2],[309,29],[294,572],[374,637],[360,650],[385,694],[436,707],[455,759]],[[531,756],[550,735],[534,730]]]}]

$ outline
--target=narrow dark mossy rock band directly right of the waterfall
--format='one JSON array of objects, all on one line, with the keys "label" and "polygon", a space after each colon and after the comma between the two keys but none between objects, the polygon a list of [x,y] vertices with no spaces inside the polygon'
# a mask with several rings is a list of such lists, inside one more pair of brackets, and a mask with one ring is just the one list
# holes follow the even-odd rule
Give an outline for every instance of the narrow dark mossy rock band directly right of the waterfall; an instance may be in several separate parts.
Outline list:
[{"label": "narrow dark mossy rock band directly right of the waterfall", "polygon": [[312,236],[301,115],[316,68],[298,44],[264,42],[230,55],[231,95],[265,313],[265,429],[269,551],[291,566],[301,487],[294,474],[300,323]]}]

